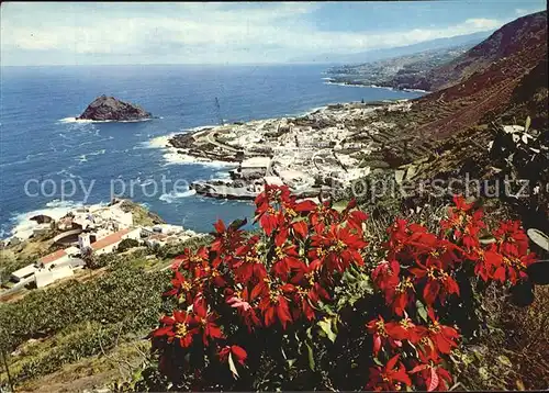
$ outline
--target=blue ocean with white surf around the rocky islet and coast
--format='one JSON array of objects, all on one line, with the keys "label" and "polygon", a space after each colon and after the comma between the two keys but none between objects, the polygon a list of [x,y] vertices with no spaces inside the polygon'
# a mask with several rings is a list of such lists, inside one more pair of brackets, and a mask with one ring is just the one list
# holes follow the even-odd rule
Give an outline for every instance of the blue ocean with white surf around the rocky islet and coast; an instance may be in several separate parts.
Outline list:
[{"label": "blue ocean with white surf around the rocky islet and coast", "polygon": [[[63,214],[86,198],[87,204],[108,203],[111,190],[121,194],[123,188],[124,196],[145,204],[168,223],[210,232],[217,218],[250,217],[253,204],[187,191],[186,182],[224,176],[227,168],[181,164],[161,148],[164,136],[221,120],[246,122],[300,115],[336,102],[421,96],[327,85],[323,80],[326,68],[1,67],[0,238],[24,229],[34,214]],[[75,122],[101,94],[137,103],[158,117],[134,123]],[[167,179],[164,190],[163,176]]]}]

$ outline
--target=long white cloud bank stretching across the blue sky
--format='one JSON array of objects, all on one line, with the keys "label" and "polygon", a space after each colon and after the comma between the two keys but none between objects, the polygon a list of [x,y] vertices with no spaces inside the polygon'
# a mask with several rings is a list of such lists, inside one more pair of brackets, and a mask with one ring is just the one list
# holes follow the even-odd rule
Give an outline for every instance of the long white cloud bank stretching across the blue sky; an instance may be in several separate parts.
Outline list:
[{"label": "long white cloud bank stretching across the blue sky", "polygon": [[227,9],[223,3],[171,5],[177,7],[173,12],[158,16],[160,13],[102,18],[44,13],[43,18],[26,19],[25,23],[18,18],[4,18],[2,12],[2,53],[11,56],[10,53],[23,49],[82,55],[135,54],[136,59],[155,55],[157,63],[181,57],[186,63],[283,61],[296,55],[355,53],[415,44],[496,29],[506,22],[469,19],[446,29],[326,32],[300,18],[320,7],[317,3],[266,3],[239,10]]}]

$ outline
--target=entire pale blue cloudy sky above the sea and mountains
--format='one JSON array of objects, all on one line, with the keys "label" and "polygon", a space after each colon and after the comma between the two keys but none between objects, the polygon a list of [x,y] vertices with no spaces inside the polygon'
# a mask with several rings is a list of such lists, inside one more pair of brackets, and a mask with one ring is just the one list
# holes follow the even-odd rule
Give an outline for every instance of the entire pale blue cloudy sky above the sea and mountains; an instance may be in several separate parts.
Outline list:
[{"label": "entire pale blue cloudy sky above the sea and mountains", "polygon": [[545,0],[2,2],[0,65],[270,64],[496,30]]}]

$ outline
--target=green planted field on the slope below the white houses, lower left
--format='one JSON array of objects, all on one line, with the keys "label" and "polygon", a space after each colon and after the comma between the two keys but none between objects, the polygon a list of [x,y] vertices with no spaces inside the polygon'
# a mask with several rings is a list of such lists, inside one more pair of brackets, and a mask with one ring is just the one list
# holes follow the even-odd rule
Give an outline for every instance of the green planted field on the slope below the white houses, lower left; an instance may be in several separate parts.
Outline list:
[{"label": "green planted field on the slope below the white houses, lower left", "polygon": [[[0,304],[0,350],[12,353],[15,384],[32,384],[90,357],[96,357],[97,370],[89,372],[109,370],[111,352],[121,346],[135,357],[133,346],[143,347],[141,341],[165,307],[160,294],[169,283],[169,271],[161,268],[186,247],[195,249],[209,238],[102,255],[96,259],[99,270],[82,271],[70,281]],[[5,373],[0,374],[0,385],[7,383]]]}]

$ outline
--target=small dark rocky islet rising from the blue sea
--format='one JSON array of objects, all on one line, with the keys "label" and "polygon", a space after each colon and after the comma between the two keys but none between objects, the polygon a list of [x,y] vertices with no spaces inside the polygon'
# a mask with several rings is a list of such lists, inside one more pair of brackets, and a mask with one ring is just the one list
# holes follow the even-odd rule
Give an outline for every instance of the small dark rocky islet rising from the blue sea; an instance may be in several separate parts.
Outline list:
[{"label": "small dark rocky islet rising from the blue sea", "polygon": [[114,97],[101,96],[86,108],[78,120],[93,121],[137,121],[150,119],[152,114],[143,108],[124,102]]}]

